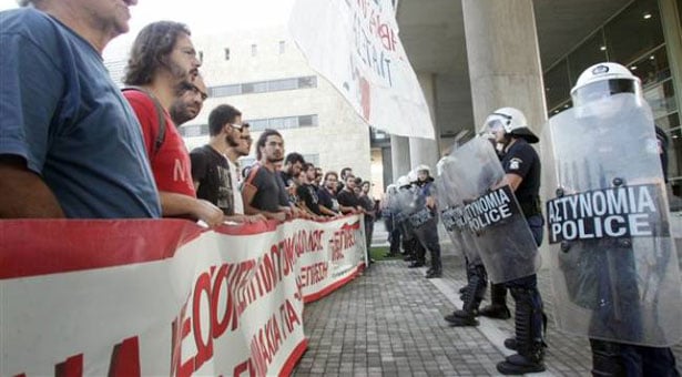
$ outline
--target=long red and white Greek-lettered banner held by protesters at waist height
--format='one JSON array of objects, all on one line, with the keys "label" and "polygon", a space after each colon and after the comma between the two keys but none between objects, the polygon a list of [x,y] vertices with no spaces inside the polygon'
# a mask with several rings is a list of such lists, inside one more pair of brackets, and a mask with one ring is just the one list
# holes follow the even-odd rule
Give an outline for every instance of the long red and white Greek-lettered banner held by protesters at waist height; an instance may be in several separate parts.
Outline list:
[{"label": "long red and white Greek-lettered banner held by protesters at waist height", "polygon": [[364,265],[359,216],[0,222],[0,376],[288,375]]}]

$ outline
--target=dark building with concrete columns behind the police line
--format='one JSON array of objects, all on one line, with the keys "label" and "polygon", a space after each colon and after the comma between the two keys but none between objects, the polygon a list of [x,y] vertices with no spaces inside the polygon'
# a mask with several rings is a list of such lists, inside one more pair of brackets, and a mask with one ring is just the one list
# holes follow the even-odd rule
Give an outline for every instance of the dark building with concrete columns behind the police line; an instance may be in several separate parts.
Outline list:
[{"label": "dark building with concrete columns behind the police line", "polygon": [[[614,61],[642,80],[671,139],[670,179],[682,194],[681,0],[400,0],[397,19],[427,101],[432,94],[431,149],[442,153],[475,134],[501,106],[521,109],[541,133],[572,105],[570,89],[586,68]],[[424,155],[415,142],[424,143],[391,136],[394,176],[411,167],[400,156]]]}]

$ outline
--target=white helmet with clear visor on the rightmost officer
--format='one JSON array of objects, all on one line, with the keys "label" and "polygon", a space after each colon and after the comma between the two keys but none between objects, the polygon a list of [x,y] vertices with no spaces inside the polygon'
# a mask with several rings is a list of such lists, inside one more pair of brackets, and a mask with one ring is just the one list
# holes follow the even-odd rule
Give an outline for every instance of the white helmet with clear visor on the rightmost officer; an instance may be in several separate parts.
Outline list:
[{"label": "white helmet with clear visor on the rightmost officer", "polygon": [[584,70],[571,89],[576,108],[618,93],[632,93],[641,104],[642,84],[629,69],[618,63],[599,63]]}]

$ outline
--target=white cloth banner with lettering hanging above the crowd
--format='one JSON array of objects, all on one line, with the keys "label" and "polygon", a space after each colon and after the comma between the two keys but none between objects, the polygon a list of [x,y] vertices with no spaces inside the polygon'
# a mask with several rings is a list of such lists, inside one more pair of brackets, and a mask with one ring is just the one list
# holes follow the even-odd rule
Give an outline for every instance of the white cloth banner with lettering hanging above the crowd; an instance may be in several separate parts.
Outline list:
[{"label": "white cloth banner with lettering hanging above the crowd", "polygon": [[390,0],[297,0],[289,30],[311,67],[369,125],[394,135],[435,137]]}]

